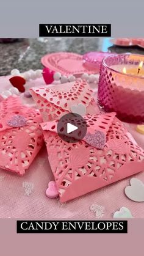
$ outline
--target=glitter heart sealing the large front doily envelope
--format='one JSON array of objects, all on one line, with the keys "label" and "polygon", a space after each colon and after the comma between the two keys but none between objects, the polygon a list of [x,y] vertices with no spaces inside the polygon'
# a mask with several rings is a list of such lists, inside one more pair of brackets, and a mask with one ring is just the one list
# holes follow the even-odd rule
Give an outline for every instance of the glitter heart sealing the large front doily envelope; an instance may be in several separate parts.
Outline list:
[{"label": "glitter heart sealing the large front doily envelope", "polygon": [[93,134],[88,133],[85,136],[85,141],[93,147],[103,149],[104,145],[106,144],[106,136],[103,131],[96,131]]}]

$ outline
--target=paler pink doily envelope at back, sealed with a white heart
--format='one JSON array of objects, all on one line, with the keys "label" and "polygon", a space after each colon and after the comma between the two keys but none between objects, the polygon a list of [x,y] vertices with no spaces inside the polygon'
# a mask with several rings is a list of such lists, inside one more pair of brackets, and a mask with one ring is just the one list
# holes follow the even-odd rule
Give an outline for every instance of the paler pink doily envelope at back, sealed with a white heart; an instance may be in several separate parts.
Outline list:
[{"label": "paler pink doily envelope at back, sealed with a white heart", "polygon": [[73,106],[79,108],[79,104],[84,106],[86,114],[98,112],[92,89],[81,79],[66,84],[34,87],[30,91],[44,122],[59,119],[62,115],[73,112]]}]

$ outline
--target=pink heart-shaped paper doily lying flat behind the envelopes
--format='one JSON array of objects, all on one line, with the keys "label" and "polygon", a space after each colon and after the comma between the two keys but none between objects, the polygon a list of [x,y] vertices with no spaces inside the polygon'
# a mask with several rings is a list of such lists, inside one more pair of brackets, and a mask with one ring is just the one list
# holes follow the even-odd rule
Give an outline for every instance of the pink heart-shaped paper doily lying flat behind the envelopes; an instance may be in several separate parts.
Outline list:
[{"label": "pink heart-shaped paper doily lying flat behind the envelopes", "polygon": [[85,67],[83,56],[76,53],[51,53],[41,58],[41,63],[50,70],[73,75],[82,73],[98,73],[99,69]]}]

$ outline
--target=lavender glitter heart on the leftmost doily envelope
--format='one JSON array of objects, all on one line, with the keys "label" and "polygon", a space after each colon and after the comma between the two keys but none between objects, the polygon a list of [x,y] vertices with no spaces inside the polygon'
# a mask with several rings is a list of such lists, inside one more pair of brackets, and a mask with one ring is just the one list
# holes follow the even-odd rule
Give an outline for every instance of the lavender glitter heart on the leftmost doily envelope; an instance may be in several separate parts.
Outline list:
[{"label": "lavender glitter heart on the leftmost doily envelope", "polygon": [[7,121],[7,125],[10,127],[22,127],[27,125],[27,120],[22,115],[13,115],[10,120]]}]

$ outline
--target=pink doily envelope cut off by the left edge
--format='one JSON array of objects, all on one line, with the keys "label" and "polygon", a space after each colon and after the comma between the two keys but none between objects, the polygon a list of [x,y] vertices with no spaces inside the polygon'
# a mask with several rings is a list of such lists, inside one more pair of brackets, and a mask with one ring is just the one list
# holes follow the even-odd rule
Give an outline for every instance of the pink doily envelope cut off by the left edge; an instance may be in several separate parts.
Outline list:
[{"label": "pink doily envelope cut off by the left edge", "polygon": [[41,115],[19,97],[0,103],[0,167],[23,175],[43,145]]}]

